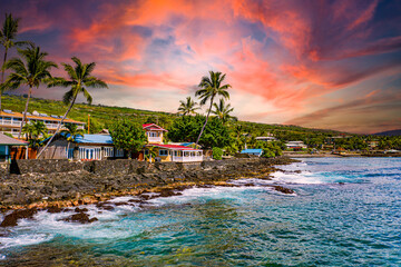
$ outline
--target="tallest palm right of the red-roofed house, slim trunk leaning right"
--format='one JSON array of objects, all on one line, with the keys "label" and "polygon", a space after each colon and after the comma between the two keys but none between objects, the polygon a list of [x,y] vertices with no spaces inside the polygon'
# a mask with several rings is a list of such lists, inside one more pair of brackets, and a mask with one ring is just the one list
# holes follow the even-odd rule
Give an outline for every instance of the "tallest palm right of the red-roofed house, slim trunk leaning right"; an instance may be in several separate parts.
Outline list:
[{"label": "tallest palm right of the red-roofed house, slim trunk leaning right", "polygon": [[202,127],[200,134],[196,140],[196,145],[199,142],[202,134],[205,130],[215,97],[222,96],[225,99],[229,99],[229,93],[228,93],[227,89],[231,88],[232,86],[231,85],[222,85],[226,75],[222,76],[222,72],[218,72],[218,71],[217,72],[209,71],[209,75],[211,75],[211,77],[204,76],[202,78],[200,83],[198,86],[202,89],[199,89],[195,92],[195,96],[199,97],[199,99],[200,99],[200,105],[205,105],[207,102],[207,100],[211,99],[211,107],[207,111],[206,121]]}]

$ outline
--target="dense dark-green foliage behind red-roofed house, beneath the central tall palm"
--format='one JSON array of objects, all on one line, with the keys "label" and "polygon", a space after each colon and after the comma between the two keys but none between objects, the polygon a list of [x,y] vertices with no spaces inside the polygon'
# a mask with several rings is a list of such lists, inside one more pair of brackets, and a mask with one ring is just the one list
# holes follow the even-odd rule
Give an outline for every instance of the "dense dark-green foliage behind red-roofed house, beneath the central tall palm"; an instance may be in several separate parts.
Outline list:
[{"label": "dense dark-green foliage behind red-roofed house, beneath the central tall palm", "polygon": [[[204,116],[183,116],[177,118],[168,128],[168,138],[172,141],[195,142],[206,118]],[[199,139],[204,148],[225,147],[232,141],[228,128],[217,118],[209,119]]]}]

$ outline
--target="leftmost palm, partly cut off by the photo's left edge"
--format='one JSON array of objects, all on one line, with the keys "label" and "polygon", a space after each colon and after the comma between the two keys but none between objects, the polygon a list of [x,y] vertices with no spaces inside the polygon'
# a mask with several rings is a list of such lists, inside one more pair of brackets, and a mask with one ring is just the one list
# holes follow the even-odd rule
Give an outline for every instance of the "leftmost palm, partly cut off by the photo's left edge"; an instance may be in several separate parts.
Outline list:
[{"label": "leftmost palm, partly cut off by the photo's left edge", "polygon": [[[4,82],[4,65],[7,61],[8,50],[12,47],[19,47],[22,44],[27,44],[27,41],[13,41],[16,39],[18,32],[18,24],[20,19],[13,19],[11,14],[6,13],[6,20],[2,24],[2,29],[0,30],[0,44],[4,47],[4,57],[3,63],[1,67],[1,85]],[[1,110],[1,95],[3,90],[0,90],[0,110]]]}]

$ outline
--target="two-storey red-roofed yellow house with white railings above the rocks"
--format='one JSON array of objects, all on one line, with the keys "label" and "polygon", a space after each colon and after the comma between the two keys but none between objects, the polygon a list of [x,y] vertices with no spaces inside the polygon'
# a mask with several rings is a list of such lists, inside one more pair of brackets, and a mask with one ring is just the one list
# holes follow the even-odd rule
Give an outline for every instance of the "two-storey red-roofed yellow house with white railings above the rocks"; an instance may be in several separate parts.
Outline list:
[{"label": "two-storey red-roofed yellow house with white railings above the rocks", "polygon": [[173,161],[173,162],[197,162],[203,161],[203,150],[190,147],[192,144],[164,144],[163,134],[166,129],[155,125],[143,125],[146,131],[148,144],[139,155],[139,159],[150,160],[151,151],[154,151],[154,159],[156,161]]}]

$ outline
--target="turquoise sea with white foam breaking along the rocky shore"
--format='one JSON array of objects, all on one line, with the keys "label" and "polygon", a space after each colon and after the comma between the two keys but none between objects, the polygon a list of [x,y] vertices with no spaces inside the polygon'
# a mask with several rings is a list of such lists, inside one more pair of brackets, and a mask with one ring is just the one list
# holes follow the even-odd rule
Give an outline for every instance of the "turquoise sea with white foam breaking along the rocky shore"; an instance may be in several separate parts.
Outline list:
[{"label": "turquoise sea with white foam breaking along the rocky shore", "polygon": [[193,188],[115,210],[88,206],[99,219],[91,225],[40,211],[0,230],[0,265],[401,266],[401,159],[301,160],[253,187]]}]

